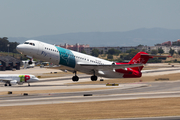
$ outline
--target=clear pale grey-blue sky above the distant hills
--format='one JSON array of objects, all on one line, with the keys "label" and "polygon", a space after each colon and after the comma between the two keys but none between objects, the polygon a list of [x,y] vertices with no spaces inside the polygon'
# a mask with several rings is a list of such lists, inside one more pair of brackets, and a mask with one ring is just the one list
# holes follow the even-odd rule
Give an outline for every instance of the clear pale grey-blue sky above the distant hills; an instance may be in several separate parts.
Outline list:
[{"label": "clear pale grey-blue sky above the distant hills", "polygon": [[0,0],[0,37],[180,29],[180,0]]}]

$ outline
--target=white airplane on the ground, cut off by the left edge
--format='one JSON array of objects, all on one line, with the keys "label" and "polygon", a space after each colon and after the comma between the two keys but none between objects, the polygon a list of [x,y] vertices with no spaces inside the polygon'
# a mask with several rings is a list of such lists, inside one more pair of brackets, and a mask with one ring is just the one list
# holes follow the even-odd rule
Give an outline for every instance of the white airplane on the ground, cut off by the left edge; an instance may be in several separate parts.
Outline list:
[{"label": "white airplane on the ground, cut off by the left edge", "polygon": [[39,79],[35,77],[34,75],[30,74],[0,74],[0,82],[5,83],[4,86],[11,85],[23,85],[23,83],[28,83],[28,86],[30,86],[30,83],[37,82]]}]

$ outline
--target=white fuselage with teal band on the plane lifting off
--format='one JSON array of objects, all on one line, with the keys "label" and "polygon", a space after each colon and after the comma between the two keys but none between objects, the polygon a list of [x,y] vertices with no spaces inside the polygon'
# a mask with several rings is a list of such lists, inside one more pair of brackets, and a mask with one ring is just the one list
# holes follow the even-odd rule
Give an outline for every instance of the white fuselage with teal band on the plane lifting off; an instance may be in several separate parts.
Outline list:
[{"label": "white fuselage with teal band on the plane lifting off", "polygon": [[81,66],[80,64],[92,65],[112,65],[113,62],[93,57],[87,54],[57,47],[37,40],[28,40],[24,44],[17,46],[17,50],[24,54],[37,58],[42,61],[48,61],[57,65],[63,65],[87,74],[96,74],[101,77],[120,78],[123,76],[113,70],[96,70],[93,66]]}]

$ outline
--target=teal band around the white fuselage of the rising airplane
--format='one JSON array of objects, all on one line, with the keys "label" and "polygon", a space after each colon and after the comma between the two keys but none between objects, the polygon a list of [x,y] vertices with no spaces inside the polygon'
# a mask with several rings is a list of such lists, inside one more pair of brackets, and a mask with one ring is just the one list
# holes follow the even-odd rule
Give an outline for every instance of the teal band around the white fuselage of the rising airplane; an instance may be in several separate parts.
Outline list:
[{"label": "teal band around the white fuselage of the rising airplane", "polygon": [[59,64],[75,68],[76,62],[75,62],[75,57],[74,57],[73,53],[68,49],[64,49],[64,48],[57,47],[57,46],[56,46],[56,48],[58,49],[59,56],[60,56]]}]

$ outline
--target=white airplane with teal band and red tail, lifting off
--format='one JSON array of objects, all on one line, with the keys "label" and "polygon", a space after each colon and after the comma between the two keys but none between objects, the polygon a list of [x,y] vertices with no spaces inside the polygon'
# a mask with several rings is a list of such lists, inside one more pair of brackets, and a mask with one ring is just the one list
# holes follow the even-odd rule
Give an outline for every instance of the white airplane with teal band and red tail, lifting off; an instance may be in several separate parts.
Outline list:
[{"label": "white airplane with teal band and red tail, lifting off", "polygon": [[61,65],[61,70],[68,70],[75,74],[72,77],[74,82],[79,80],[77,71],[91,74],[92,81],[96,81],[98,76],[106,78],[138,78],[142,75],[143,65],[150,58],[162,57],[139,52],[130,62],[117,63],[38,40],[27,40],[25,43],[18,45],[16,49],[25,56]]}]

